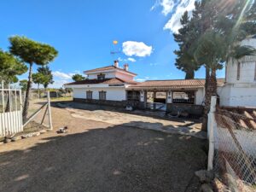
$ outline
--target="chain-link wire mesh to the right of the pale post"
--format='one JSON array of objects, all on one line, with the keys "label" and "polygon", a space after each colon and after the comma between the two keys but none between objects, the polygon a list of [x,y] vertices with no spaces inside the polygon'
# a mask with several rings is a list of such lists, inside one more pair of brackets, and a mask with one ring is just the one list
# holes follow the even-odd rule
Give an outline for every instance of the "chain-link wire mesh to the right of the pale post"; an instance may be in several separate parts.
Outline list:
[{"label": "chain-link wire mesh to the right of the pale post", "polygon": [[256,191],[256,109],[215,112],[214,172],[222,191]]}]

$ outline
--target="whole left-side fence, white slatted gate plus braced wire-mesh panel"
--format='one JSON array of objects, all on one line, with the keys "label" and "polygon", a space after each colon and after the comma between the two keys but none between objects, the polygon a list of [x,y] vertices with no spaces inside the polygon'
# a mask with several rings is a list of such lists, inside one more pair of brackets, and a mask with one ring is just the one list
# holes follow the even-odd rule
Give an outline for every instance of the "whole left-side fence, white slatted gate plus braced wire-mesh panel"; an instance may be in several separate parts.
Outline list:
[{"label": "whole left-side fence, white slatted gate plus braced wire-mesh panel", "polygon": [[52,130],[49,91],[41,91],[39,97],[30,98],[26,117],[22,117],[25,92],[2,81],[0,94],[0,142],[26,133]]}]

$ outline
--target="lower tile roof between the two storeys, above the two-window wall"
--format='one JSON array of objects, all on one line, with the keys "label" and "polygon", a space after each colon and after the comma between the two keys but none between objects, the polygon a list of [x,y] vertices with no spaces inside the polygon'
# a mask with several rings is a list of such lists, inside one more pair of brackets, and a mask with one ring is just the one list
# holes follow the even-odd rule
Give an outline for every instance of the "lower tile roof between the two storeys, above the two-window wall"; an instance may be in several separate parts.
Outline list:
[{"label": "lower tile roof between the two storeys, above the two-window wall", "polygon": [[76,81],[65,85],[72,85],[72,84],[137,84],[136,81],[126,81],[119,78],[113,78],[113,79],[85,79],[82,81]]}]

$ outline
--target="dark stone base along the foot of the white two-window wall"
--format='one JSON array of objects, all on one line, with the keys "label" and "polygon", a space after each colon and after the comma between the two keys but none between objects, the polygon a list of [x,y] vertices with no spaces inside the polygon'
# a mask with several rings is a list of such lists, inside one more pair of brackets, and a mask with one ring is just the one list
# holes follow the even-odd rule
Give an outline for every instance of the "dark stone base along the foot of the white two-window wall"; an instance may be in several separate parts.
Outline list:
[{"label": "dark stone base along the foot of the white two-window wall", "polygon": [[110,101],[110,100],[96,100],[96,99],[80,99],[73,98],[74,102],[85,102],[90,104],[108,105],[113,107],[125,108],[126,106],[132,106],[132,108],[143,109],[143,102],[138,101]]}]

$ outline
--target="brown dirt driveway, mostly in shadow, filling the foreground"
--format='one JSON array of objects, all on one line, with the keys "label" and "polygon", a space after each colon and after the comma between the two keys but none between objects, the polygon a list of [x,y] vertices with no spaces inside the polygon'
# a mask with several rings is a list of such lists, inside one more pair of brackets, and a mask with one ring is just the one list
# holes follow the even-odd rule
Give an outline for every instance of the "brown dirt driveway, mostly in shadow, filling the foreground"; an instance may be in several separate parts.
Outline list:
[{"label": "brown dirt driveway, mostly in shadow, filling the foreground", "polygon": [[67,134],[0,146],[0,191],[198,191],[204,140],[83,118],[68,108],[52,113],[55,130],[67,125]]}]

